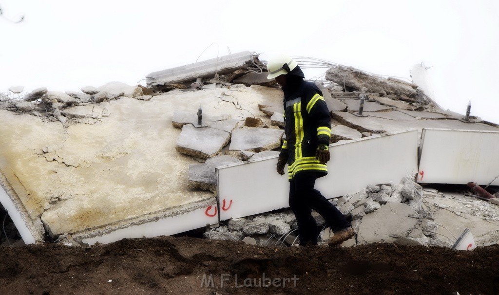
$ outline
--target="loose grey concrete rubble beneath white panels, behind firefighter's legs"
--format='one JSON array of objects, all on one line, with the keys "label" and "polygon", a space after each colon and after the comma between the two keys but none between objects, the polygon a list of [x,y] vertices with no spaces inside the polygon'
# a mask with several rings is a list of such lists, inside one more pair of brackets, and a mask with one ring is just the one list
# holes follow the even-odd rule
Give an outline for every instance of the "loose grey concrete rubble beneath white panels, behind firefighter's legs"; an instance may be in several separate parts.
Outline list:
[{"label": "loose grey concrete rubble beneath white panels, behind firefighter's legs", "polygon": [[[409,177],[402,178],[398,184],[368,184],[361,191],[331,199],[330,202],[351,221],[356,233],[342,244],[343,247],[395,243],[451,248],[457,236],[450,225],[436,221],[442,209],[458,216],[480,216],[481,221],[470,225],[477,233],[477,243],[494,244],[499,238],[498,229],[487,231],[482,228],[483,235],[479,230],[484,226],[495,227],[499,221],[499,206],[463,193],[444,194],[433,188],[424,188]],[[319,244],[326,244],[333,233],[325,228],[327,225],[320,215],[312,213],[321,228]],[[221,222],[207,228],[203,236],[253,245],[293,246],[299,242],[296,228],[294,215],[285,210]]]}]

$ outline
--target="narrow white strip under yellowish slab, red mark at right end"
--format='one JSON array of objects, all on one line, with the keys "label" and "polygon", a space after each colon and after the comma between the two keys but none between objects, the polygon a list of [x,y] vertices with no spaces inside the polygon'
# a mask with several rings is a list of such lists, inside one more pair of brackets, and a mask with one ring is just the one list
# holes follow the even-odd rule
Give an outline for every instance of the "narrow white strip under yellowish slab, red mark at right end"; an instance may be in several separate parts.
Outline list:
[{"label": "narrow white strip under yellowish slab, red mark at right end", "polygon": [[88,245],[97,242],[102,244],[112,243],[124,238],[142,238],[168,236],[188,230],[205,227],[207,224],[219,222],[217,205],[199,208],[184,214],[161,218],[155,222],[122,228],[93,238],[83,238],[81,241]]}]

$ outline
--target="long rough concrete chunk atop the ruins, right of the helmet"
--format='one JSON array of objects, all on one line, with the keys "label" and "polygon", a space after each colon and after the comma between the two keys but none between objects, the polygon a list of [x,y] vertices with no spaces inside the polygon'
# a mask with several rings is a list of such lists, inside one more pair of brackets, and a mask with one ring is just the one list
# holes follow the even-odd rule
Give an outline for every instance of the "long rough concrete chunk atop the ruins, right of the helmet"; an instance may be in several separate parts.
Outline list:
[{"label": "long rough concrete chunk atop the ruins, right of the helmet", "polygon": [[381,76],[370,75],[352,67],[332,65],[326,71],[326,79],[353,90],[379,93],[382,95],[416,96],[416,90],[406,83],[388,80]]}]

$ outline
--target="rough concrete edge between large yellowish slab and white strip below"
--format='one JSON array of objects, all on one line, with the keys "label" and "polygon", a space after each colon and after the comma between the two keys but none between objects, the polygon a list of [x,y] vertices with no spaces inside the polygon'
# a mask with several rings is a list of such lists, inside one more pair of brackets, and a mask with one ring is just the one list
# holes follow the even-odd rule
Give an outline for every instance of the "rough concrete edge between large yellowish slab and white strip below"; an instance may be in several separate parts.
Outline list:
[{"label": "rough concrete edge between large yellowish slab and white strip below", "polygon": [[[197,202],[192,202],[189,204],[183,204],[179,206],[175,206],[169,209],[166,209],[164,211],[156,212],[156,213],[149,213],[145,214],[139,217],[131,218],[131,219],[124,219],[115,223],[107,224],[103,227],[100,228],[94,228],[90,230],[84,230],[84,231],[79,231],[75,233],[68,233],[71,235],[73,240],[77,242],[80,245],[85,245],[83,243],[83,240],[85,239],[91,239],[91,238],[96,238],[96,237],[102,237],[104,235],[110,234],[114,231],[120,230],[120,229],[125,229],[133,226],[138,226],[138,225],[143,225],[147,223],[152,223],[156,222],[160,219],[165,219],[168,217],[175,217],[179,216],[182,214],[189,213],[191,211],[201,209],[201,208],[208,208],[210,206],[218,206],[218,202],[215,196],[211,196],[207,199],[200,200]],[[64,233],[66,235],[66,233]]]}]

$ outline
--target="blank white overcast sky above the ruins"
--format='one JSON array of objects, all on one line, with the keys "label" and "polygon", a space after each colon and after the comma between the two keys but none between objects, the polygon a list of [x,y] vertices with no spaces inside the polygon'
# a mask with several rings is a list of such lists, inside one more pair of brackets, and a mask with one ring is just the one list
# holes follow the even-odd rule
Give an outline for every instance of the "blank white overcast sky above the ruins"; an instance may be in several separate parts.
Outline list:
[{"label": "blank white overcast sky above the ruins", "polygon": [[0,0],[0,8],[2,92],[136,85],[150,72],[249,50],[405,78],[424,62],[439,105],[464,114],[471,100],[472,115],[499,123],[496,0]]}]

